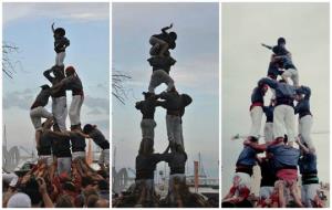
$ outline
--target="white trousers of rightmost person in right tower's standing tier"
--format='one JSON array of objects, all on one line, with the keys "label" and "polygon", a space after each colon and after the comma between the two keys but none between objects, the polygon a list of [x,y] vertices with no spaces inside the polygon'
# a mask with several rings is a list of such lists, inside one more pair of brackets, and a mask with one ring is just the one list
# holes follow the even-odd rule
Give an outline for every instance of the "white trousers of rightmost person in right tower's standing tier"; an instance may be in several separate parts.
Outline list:
[{"label": "white trousers of rightmost person in right tower's standing tier", "polygon": [[299,119],[299,134],[301,135],[301,139],[307,144],[308,148],[314,149],[311,139],[311,127],[312,127],[312,116],[305,115]]}]

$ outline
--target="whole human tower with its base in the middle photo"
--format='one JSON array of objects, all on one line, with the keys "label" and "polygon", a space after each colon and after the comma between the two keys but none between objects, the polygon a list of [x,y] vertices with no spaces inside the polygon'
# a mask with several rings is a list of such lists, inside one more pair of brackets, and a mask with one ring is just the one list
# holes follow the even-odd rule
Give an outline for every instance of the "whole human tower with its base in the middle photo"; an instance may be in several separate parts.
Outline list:
[{"label": "whole human tower with its base in the middle photo", "polygon": [[[148,92],[143,92],[144,101],[136,103],[143,117],[141,122],[142,141],[136,156],[135,185],[127,191],[113,199],[113,207],[209,207],[203,197],[191,193],[186,185],[185,166],[187,154],[183,136],[183,116],[185,108],[191,103],[191,97],[180,94],[169,75],[170,67],[176,61],[169,50],[176,46],[177,34],[168,32],[173,24],[162,29],[160,34],[149,39],[152,44],[147,60],[153,67]],[[160,94],[155,88],[165,83],[167,90]],[[163,154],[154,153],[156,107],[166,109],[166,129],[168,147]],[[169,167],[168,195],[160,198],[155,191],[154,175],[156,166],[166,161]]]}]

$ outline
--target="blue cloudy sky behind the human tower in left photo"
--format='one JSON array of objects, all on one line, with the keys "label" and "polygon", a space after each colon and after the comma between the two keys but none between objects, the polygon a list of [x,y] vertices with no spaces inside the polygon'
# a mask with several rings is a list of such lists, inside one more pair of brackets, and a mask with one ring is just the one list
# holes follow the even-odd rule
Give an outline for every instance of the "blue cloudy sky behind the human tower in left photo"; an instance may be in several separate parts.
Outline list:
[{"label": "blue cloudy sky behind the human tower in left photo", "polygon": [[[96,124],[110,136],[110,11],[108,3],[3,3],[3,41],[19,48],[10,59],[13,78],[3,76],[3,124],[8,147],[34,147],[30,106],[48,84],[43,71],[55,63],[52,22],[66,30],[71,45],[65,65],[73,65],[82,80],[84,103],[82,124]],[[68,106],[71,92],[68,92]],[[51,98],[46,106],[51,111]],[[66,126],[70,120],[68,117]],[[110,138],[108,138],[110,139]]]}]

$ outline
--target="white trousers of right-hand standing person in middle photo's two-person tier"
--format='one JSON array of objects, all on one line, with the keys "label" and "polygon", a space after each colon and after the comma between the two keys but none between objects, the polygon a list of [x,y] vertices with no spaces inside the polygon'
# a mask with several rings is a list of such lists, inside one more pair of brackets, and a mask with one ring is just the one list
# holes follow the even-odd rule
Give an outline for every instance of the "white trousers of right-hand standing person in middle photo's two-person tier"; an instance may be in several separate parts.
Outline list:
[{"label": "white trousers of right-hand standing person in middle photo's two-person tier", "polygon": [[179,116],[166,115],[166,129],[168,140],[181,145],[181,119]]}]

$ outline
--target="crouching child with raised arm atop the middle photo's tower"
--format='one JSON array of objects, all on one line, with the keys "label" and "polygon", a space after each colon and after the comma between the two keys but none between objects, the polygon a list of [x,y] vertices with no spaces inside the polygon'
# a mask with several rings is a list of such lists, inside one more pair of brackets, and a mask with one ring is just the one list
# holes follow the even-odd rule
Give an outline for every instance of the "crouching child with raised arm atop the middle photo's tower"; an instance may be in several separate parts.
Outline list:
[{"label": "crouching child with raised arm atop the middle photo's tower", "polygon": [[149,50],[151,55],[164,56],[165,53],[168,52],[168,49],[175,49],[175,40],[177,39],[177,34],[175,32],[167,32],[167,30],[172,28],[173,23],[169,27],[163,28],[160,34],[154,34],[151,36],[149,43],[153,45]]}]

